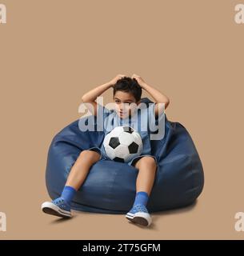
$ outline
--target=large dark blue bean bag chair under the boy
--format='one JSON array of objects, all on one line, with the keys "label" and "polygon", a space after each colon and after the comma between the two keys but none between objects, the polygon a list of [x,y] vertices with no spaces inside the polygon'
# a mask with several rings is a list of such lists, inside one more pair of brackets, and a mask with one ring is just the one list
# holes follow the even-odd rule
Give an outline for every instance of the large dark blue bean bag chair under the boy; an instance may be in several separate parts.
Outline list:
[{"label": "large dark blue bean bag chair under the boy", "polygon": [[[142,102],[151,101],[143,98]],[[103,131],[81,131],[78,122],[66,126],[50,144],[46,187],[52,199],[61,195],[70,169],[81,151],[102,145]],[[151,147],[152,154],[158,160],[158,170],[147,209],[152,213],[192,204],[202,192],[204,175],[202,162],[186,128],[178,122],[168,121],[165,115],[165,136],[162,140],[151,140]],[[134,203],[137,175],[138,169],[134,166],[99,160],[91,166],[71,208],[94,213],[126,214]]]}]

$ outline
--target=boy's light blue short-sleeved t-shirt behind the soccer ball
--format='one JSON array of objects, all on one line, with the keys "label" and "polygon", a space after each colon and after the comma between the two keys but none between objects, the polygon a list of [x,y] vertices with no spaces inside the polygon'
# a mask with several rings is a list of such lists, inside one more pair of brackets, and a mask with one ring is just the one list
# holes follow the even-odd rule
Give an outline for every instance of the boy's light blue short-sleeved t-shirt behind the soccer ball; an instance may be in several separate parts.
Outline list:
[{"label": "boy's light blue short-sleeved t-shirt behind the soccer ball", "polygon": [[[132,127],[141,135],[142,138],[143,148],[140,155],[152,155],[150,140],[162,139],[164,136],[165,114],[163,112],[162,114],[158,114],[158,118],[155,118],[155,105],[156,103],[149,103],[149,106],[146,106],[146,103],[141,103],[138,105],[138,111],[136,110],[131,117],[120,118],[115,110],[109,110],[105,106],[98,104],[97,124],[101,126],[103,125],[105,136],[117,126]],[[99,117],[103,117],[103,122]],[[152,132],[154,132],[154,134],[151,134]],[[103,143],[101,146],[101,152],[106,156]],[[128,164],[131,164],[133,160],[134,158],[128,162]]]}]

